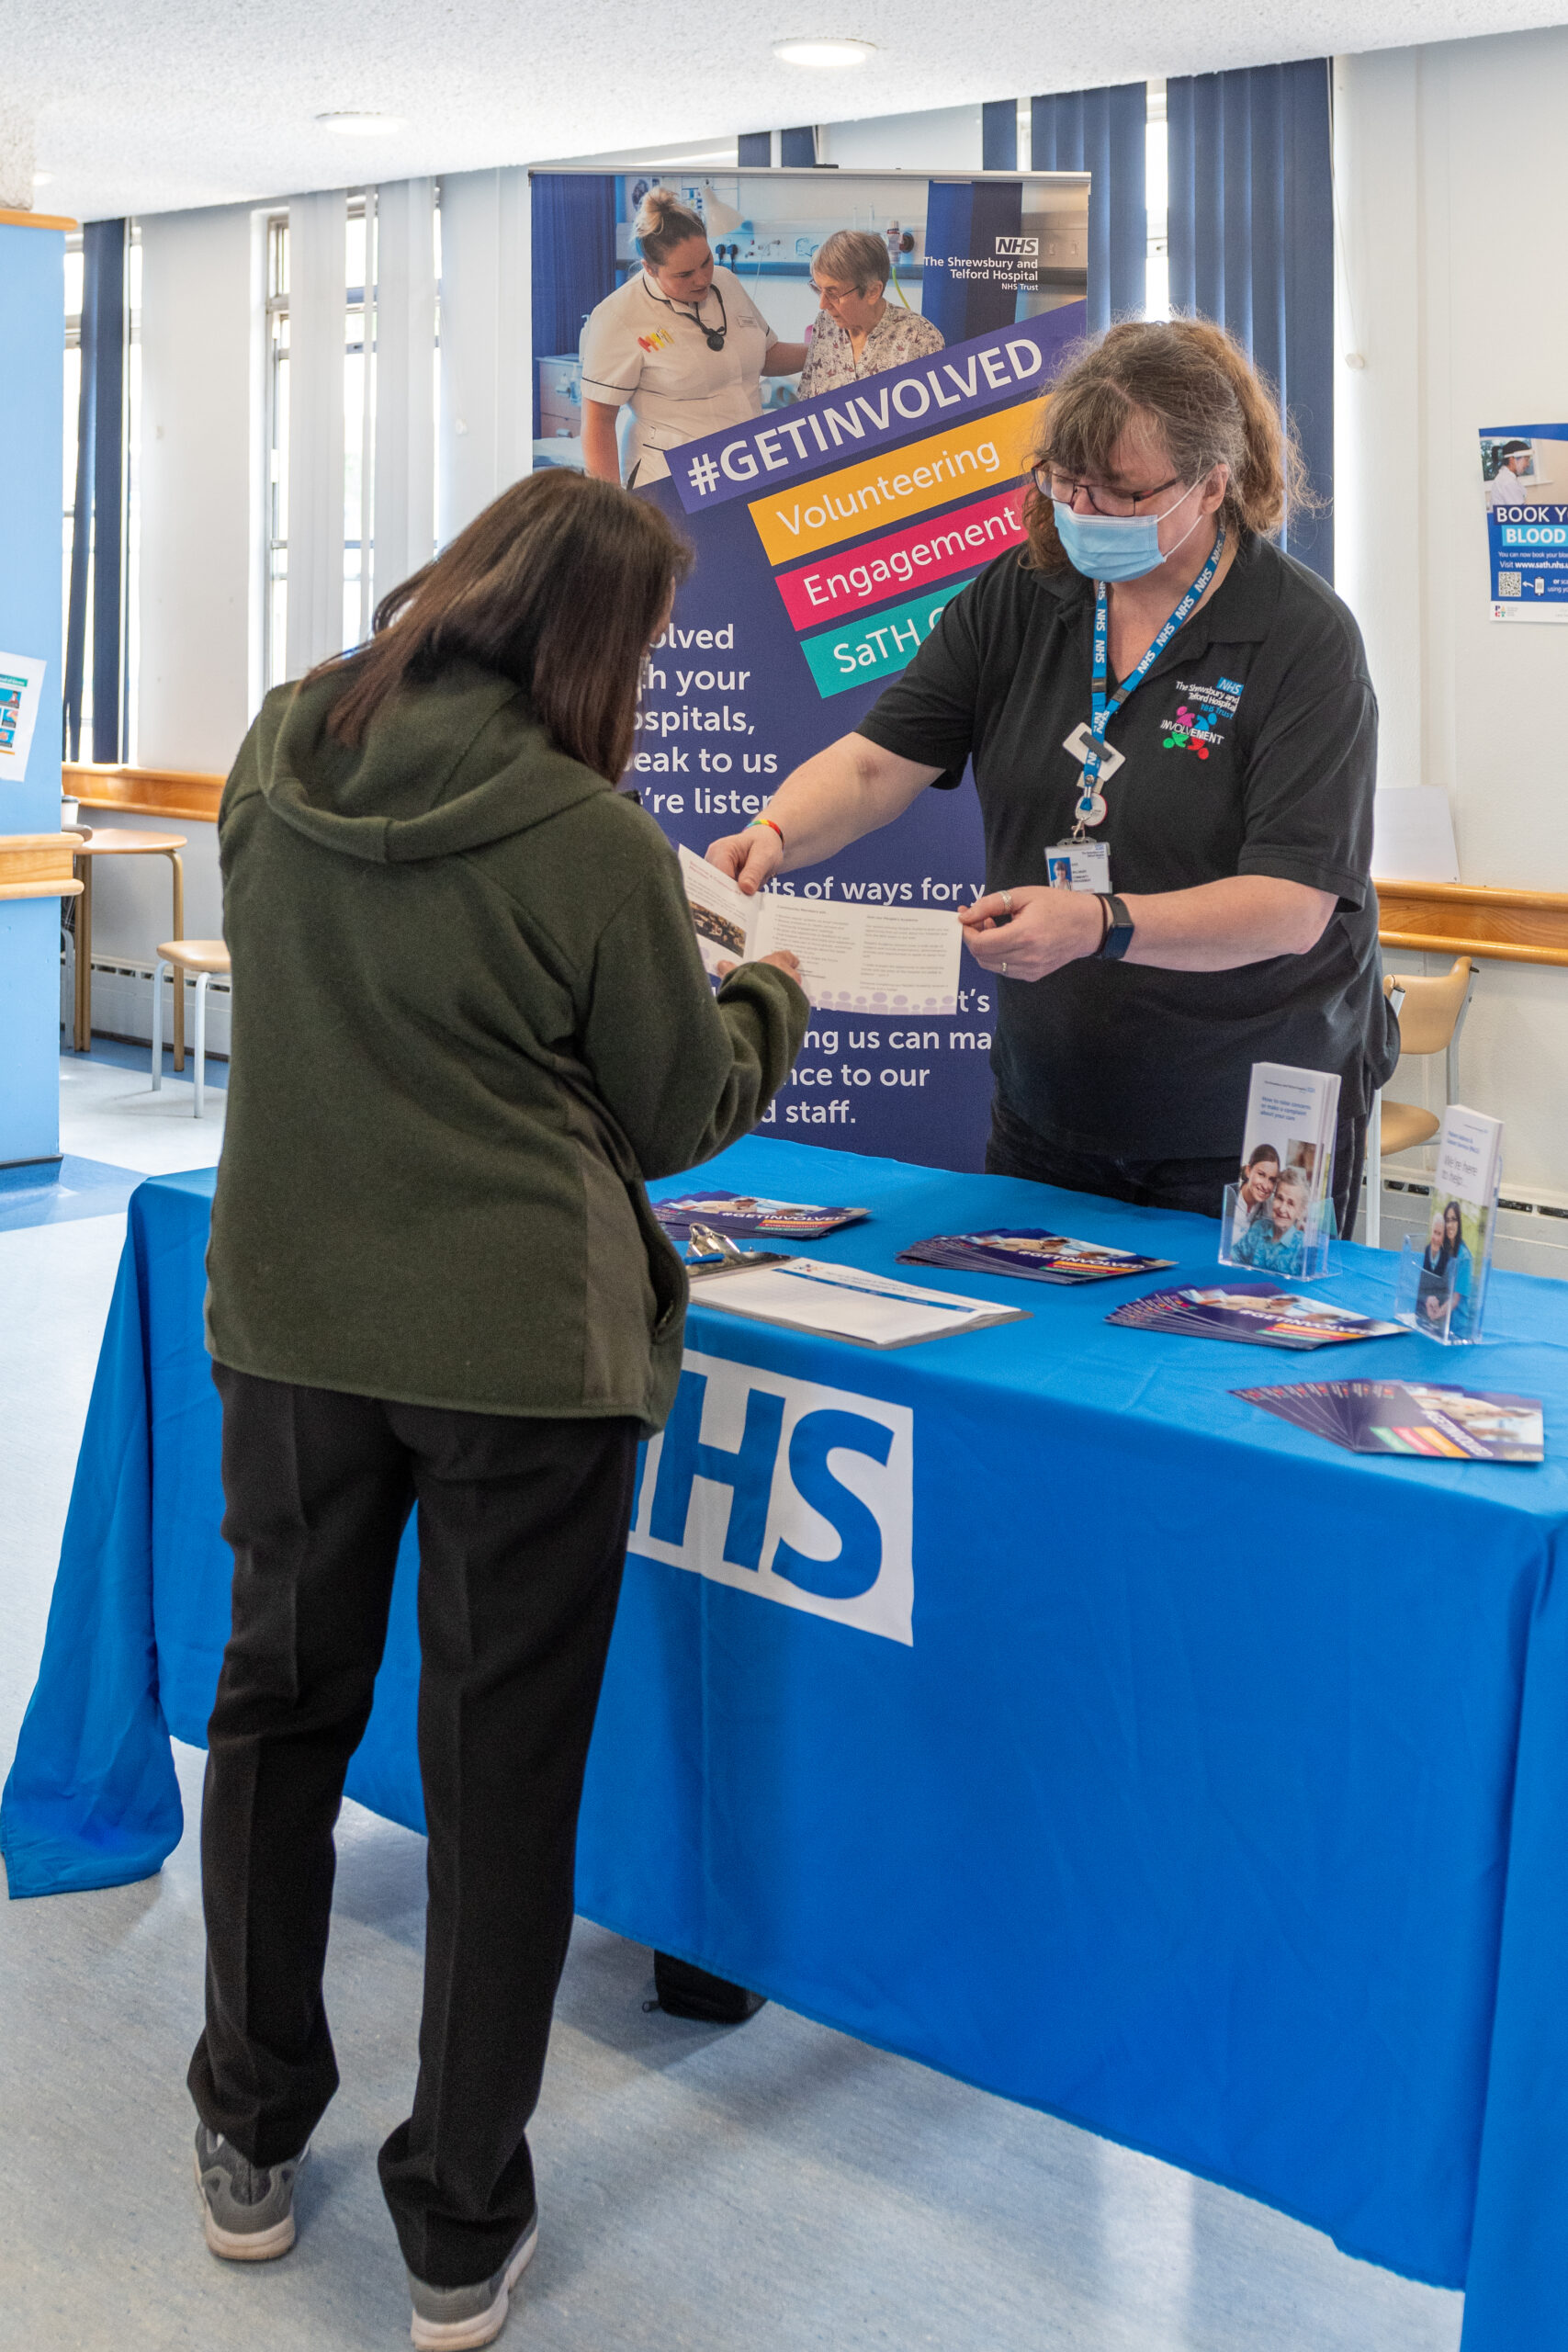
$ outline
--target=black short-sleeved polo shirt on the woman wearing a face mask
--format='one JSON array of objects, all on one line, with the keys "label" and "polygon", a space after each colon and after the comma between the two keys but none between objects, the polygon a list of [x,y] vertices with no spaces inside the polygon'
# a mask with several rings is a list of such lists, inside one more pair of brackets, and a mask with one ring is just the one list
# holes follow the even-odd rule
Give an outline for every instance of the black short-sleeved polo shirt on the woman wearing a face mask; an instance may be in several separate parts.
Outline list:
[{"label": "black short-sleeved polo shirt on the woman wearing a face mask", "polygon": [[[1074,823],[1091,710],[1093,583],[1001,555],[943,612],[860,722],[903,760],[973,760],[985,887],[1046,880]],[[1112,684],[1114,691],[1114,684]],[[1105,781],[1117,891],[1276,875],[1333,891],[1316,948],[1237,971],[1081,960],[999,981],[992,1070],[1006,1110],[1070,1150],[1241,1152],[1255,1061],[1338,1070],[1363,1112],[1396,1058],[1371,884],[1378,703],[1361,633],[1314,572],[1248,536],[1218,590],[1112,717]]]}]

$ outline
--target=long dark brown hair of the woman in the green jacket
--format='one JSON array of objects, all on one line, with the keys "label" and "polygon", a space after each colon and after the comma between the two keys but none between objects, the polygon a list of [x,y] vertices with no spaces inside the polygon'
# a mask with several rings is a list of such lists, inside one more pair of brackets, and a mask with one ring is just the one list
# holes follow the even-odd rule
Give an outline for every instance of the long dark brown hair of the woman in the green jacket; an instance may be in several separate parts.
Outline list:
[{"label": "long dark brown hair of the woman in the green jacket", "polygon": [[327,731],[357,746],[402,687],[475,661],[515,677],[557,748],[614,783],[632,755],[642,659],[689,569],[656,506],[552,466],[503,489],[381,600],[367,647],[303,684],[343,680]]}]

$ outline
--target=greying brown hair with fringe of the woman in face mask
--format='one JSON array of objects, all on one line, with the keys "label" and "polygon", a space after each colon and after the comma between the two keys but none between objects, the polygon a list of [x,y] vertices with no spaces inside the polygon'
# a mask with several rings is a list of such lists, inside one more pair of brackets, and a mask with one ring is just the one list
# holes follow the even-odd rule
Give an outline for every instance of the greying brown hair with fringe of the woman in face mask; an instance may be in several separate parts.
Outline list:
[{"label": "greying brown hair with fringe of the woman in face mask", "polygon": [[[1291,510],[1319,501],[1307,485],[1295,426],[1279,395],[1222,327],[1206,318],[1121,320],[1079,348],[1051,386],[1032,466],[1105,482],[1121,435],[1152,428],[1182,482],[1229,468],[1225,506],[1232,536],[1269,536]],[[1051,501],[1037,487],[1023,506],[1025,562],[1063,572]]]}]

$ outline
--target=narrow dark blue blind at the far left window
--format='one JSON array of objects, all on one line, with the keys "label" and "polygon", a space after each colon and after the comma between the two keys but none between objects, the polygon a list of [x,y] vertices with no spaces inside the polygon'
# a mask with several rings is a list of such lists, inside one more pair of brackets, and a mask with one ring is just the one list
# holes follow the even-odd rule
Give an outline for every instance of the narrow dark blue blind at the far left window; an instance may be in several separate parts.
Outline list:
[{"label": "narrow dark blue blind at the far left window", "polygon": [[82,230],[82,390],[66,607],[66,757],[82,757],[82,663],[92,574],[92,757],[120,757],[125,572],[125,221]]}]

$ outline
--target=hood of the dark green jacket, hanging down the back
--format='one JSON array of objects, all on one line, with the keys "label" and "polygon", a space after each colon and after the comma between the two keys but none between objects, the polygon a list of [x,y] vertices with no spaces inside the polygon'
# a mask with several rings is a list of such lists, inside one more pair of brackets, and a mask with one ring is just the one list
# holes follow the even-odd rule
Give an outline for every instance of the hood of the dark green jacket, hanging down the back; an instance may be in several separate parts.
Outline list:
[{"label": "hood of the dark green jacket, hanging down the back", "polygon": [[555,750],[527,694],[473,663],[386,703],[355,750],[327,734],[341,673],[275,687],[256,722],[261,793],[322,849],[374,866],[447,858],[614,786]]}]

